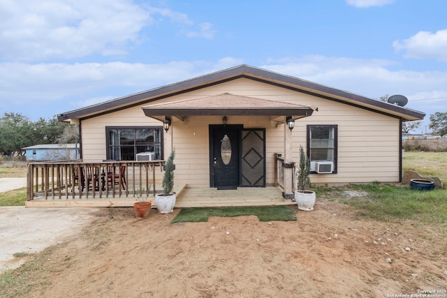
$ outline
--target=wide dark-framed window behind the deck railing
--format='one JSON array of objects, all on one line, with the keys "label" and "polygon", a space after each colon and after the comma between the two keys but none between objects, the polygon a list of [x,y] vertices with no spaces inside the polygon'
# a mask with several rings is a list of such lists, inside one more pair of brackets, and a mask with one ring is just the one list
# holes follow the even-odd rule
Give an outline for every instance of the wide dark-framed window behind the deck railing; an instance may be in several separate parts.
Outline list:
[{"label": "wide dark-framed window behind the deck railing", "polygon": [[163,129],[161,126],[106,127],[107,159],[135,161],[140,152],[154,152],[163,159]]}]

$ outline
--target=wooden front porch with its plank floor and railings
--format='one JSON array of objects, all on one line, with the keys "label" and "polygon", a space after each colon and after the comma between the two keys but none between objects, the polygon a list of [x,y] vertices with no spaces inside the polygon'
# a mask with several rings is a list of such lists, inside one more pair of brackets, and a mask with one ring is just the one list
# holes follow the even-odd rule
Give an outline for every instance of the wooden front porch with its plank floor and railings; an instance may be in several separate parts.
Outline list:
[{"label": "wooden front porch with its plank floor and railings", "polygon": [[[295,204],[292,200],[283,198],[282,162],[281,158],[276,158],[276,186],[218,191],[216,188],[175,185],[175,207]],[[152,201],[152,207],[155,207],[154,197],[156,193],[161,193],[164,163],[165,161],[29,163],[25,207],[132,207],[138,200]],[[126,167],[125,172],[119,170],[122,167]],[[82,179],[79,174],[82,172],[93,173],[93,176],[88,177],[85,174]],[[106,174],[111,172],[114,174]],[[122,185],[121,181],[126,183]]]}]

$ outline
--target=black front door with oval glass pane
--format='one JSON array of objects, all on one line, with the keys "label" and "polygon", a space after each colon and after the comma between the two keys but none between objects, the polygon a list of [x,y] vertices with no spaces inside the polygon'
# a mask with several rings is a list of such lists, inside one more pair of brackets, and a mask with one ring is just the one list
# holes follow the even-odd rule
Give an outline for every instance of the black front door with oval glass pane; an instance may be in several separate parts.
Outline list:
[{"label": "black front door with oval glass pane", "polygon": [[241,126],[210,126],[210,184],[218,189],[239,186]]}]

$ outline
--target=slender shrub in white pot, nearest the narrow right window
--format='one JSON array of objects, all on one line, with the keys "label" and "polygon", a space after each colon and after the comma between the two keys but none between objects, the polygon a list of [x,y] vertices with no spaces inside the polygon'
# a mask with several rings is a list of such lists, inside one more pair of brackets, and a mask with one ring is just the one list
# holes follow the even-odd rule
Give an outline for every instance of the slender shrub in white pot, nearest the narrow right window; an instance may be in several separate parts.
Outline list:
[{"label": "slender shrub in white pot, nearest the narrow right window", "polygon": [[310,191],[310,160],[300,145],[300,165],[296,174],[295,202],[298,209],[304,211],[314,210],[315,192]]}]

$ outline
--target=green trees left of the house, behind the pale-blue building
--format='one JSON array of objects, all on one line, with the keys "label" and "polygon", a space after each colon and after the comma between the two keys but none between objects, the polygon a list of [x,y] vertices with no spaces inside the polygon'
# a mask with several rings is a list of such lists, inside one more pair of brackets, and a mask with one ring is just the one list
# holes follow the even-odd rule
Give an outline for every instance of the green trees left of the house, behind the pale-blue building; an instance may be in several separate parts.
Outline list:
[{"label": "green trees left of the house, behind the pale-blue building", "polygon": [[6,112],[0,118],[0,154],[22,156],[22,148],[37,144],[78,142],[78,128],[56,118],[31,121],[20,113]]}]

